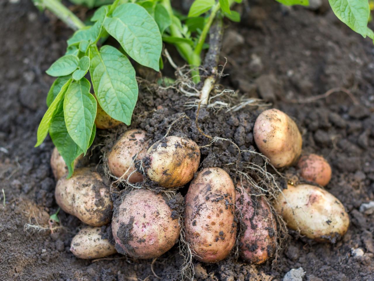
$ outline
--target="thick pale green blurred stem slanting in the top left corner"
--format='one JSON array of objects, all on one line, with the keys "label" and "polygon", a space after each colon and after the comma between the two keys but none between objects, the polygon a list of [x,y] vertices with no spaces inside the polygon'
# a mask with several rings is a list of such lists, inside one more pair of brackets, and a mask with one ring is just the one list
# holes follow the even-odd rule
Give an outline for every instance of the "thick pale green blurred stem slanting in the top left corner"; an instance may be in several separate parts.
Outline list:
[{"label": "thick pale green blurred stem slanting in the top left corner", "polygon": [[39,9],[50,10],[73,30],[85,27],[85,24],[58,0],[32,0]]}]

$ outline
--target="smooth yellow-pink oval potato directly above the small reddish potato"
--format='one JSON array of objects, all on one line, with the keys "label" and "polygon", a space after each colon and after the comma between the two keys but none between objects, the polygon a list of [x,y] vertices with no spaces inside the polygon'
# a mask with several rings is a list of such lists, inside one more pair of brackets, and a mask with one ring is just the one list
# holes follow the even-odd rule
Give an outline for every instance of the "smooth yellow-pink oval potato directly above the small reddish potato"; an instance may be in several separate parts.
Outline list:
[{"label": "smooth yellow-pink oval potato directly above the small reddish potato", "polygon": [[253,128],[255,143],[276,168],[295,164],[303,140],[295,122],[278,109],[261,113]]}]

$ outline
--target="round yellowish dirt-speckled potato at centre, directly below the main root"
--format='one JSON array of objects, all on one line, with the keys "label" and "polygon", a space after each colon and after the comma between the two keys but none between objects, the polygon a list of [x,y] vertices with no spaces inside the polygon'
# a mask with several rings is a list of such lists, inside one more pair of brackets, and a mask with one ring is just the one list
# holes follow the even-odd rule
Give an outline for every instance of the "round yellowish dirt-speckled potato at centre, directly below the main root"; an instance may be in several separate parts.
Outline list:
[{"label": "round yellowish dirt-speckled potato at centre, directly below the main root", "polygon": [[180,187],[199,168],[200,149],[193,140],[170,136],[154,143],[143,163],[150,180],[166,188]]}]

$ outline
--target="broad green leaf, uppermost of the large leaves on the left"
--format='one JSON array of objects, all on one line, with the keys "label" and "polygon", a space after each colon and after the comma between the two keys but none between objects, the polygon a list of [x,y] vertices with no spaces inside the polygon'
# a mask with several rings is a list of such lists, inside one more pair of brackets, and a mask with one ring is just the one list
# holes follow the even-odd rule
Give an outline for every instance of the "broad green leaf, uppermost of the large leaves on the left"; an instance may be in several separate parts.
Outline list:
[{"label": "broad green leaf, uppermost of the large leaves on the left", "polygon": [[154,19],[133,3],[118,6],[112,16],[104,21],[108,33],[135,61],[159,71],[162,39]]}]

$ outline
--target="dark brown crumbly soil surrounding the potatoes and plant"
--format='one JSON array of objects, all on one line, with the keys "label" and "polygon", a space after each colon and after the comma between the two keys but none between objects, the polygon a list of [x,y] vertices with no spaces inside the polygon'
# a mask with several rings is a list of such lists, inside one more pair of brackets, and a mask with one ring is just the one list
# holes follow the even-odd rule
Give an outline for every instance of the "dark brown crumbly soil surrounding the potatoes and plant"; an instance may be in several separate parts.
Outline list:
[{"label": "dark brown crumbly soil surrounding the potatoes and plant", "polygon": [[[0,11],[0,189],[5,195],[4,204],[0,195],[0,280],[180,280],[183,260],[177,246],[153,263],[120,254],[81,260],[69,250],[82,226],[79,220],[59,211],[63,228],[49,225],[49,216],[58,209],[49,165],[53,144],[49,138],[38,148],[34,144],[53,82],[45,70],[64,54],[72,32],[53,16],[40,14],[28,0],[1,1]],[[312,243],[291,232],[273,266],[247,265],[235,255],[218,264],[195,262],[195,278],[282,280],[290,269],[302,267],[304,281],[373,281],[374,217],[360,211],[361,204],[374,200],[373,44],[341,24],[325,2],[313,11],[251,1],[241,12],[240,24],[226,22],[221,64],[226,57],[224,73],[229,75],[221,83],[239,90],[233,101],[261,97],[294,118],[303,133],[303,153],[323,155],[331,164],[326,189],[344,204],[351,224],[333,245]],[[140,88],[131,128],[144,129],[159,140],[178,120],[169,134],[187,135],[199,146],[209,144],[195,125],[196,107],[184,107],[194,98],[148,83]],[[201,109],[198,122],[205,134],[230,138],[241,150],[255,149],[252,126],[260,110]],[[117,136],[121,130],[125,128],[109,133]],[[96,142],[104,135],[108,132],[100,131]],[[238,179],[235,171],[242,166],[226,165],[237,161],[233,144],[219,140],[201,153],[200,168],[222,167]],[[251,153],[242,157],[262,161]],[[282,172],[295,174],[293,168]],[[355,255],[357,249],[364,254]]]}]

